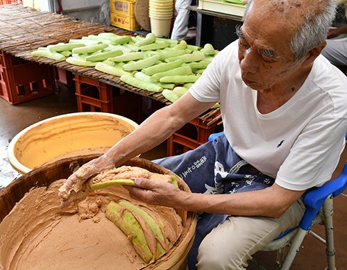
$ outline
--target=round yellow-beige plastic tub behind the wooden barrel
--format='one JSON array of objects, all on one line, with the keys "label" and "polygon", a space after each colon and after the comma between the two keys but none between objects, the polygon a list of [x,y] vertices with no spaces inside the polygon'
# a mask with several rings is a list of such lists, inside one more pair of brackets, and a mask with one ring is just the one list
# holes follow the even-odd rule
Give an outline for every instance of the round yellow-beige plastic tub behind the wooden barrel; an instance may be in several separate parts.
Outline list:
[{"label": "round yellow-beige plastic tub behind the wooden barrel", "polygon": [[138,124],[106,112],[76,112],[39,121],[19,132],[8,160],[20,174],[62,158],[105,153]]}]

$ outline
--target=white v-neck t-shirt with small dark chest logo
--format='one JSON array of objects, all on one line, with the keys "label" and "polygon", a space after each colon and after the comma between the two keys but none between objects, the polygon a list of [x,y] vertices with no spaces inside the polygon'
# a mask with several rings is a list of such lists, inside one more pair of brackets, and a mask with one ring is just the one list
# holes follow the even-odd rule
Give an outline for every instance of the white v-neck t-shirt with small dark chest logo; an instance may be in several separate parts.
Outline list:
[{"label": "white v-neck t-shirt with small dark chest logo", "polygon": [[278,185],[292,190],[323,185],[344,149],[346,76],[319,56],[296,94],[262,114],[257,91],[242,81],[237,50],[235,41],[220,51],[189,92],[198,101],[220,101],[232,149]]}]

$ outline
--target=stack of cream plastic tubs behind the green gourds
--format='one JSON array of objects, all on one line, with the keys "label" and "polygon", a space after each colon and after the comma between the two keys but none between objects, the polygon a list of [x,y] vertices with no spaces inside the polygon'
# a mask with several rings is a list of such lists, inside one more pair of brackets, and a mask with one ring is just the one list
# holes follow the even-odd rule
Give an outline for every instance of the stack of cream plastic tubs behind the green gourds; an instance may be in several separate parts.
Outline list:
[{"label": "stack of cream plastic tubs behind the green gourds", "polygon": [[174,0],[149,0],[151,32],[157,37],[169,37],[174,15]]}]

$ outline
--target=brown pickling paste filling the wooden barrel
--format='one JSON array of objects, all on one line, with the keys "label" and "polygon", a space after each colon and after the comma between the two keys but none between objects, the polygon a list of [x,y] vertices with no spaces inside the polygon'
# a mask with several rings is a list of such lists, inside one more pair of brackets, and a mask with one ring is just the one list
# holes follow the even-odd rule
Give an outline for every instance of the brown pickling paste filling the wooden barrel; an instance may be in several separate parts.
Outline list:
[{"label": "brown pickling paste filling the wooden barrel", "polygon": [[[99,189],[62,210],[57,194],[64,181],[58,180],[49,188],[31,189],[0,223],[0,268],[123,270],[146,267],[128,237],[105,217],[110,201],[130,200],[127,190],[122,186]],[[163,233],[168,233],[168,238],[180,236],[182,222],[174,209],[146,206],[165,221],[167,231]]]}]

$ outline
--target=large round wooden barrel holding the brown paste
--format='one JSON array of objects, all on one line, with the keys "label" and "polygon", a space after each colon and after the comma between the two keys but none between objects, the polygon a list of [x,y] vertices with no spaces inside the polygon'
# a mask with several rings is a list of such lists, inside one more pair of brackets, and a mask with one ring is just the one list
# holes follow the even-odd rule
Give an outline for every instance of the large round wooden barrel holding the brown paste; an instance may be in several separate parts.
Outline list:
[{"label": "large round wooden barrel holding the brown paste", "polygon": [[[14,180],[12,183],[10,183],[10,185],[0,191],[0,222],[30,189],[33,187],[48,187],[55,180],[67,178],[72,174],[72,171],[74,171],[76,167],[81,166],[85,162],[88,162],[97,156],[99,155],[81,155],[74,158],[58,160],[37,169],[33,169],[27,174],[24,174],[20,178]],[[124,165],[142,167],[144,169],[148,169],[149,171],[160,174],[173,174],[164,167],[143,158],[133,158],[128,160],[128,162],[125,162]],[[185,182],[179,176],[176,177],[178,179],[180,189],[190,192],[187,184],[185,184]],[[164,255],[156,262],[148,264],[143,269],[186,269],[187,253],[189,252],[189,249],[194,241],[196,213],[187,212],[184,210],[176,210],[176,212],[183,221],[183,233],[180,235],[178,241],[174,245],[174,248],[171,248],[169,253]]]}]

